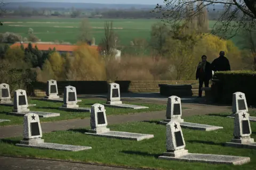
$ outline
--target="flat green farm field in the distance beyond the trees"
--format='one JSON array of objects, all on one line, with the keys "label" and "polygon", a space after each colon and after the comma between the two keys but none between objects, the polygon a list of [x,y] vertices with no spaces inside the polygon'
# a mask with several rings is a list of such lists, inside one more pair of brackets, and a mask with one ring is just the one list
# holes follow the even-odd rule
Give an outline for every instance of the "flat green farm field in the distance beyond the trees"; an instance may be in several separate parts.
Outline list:
[{"label": "flat green farm field in the distance beyond the trees", "polygon": [[[79,34],[79,24],[82,19],[71,18],[42,18],[42,19],[1,19],[5,22],[1,27],[3,32],[15,32],[21,36],[26,37],[28,28],[33,28],[36,36],[41,41],[68,41],[72,44],[77,42]],[[89,19],[91,27],[93,28],[93,36],[95,43],[98,44],[104,35],[104,21],[113,21],[113,27],[121,45],[129,45],[134,38],[150,38],[151,25],[160,21],[157,19]],[[209,27],[212,28],[215,21],[209,21]],[[121,29],[122,28],[122,29]],[[238,38],[232,39],[238,45]]]}]

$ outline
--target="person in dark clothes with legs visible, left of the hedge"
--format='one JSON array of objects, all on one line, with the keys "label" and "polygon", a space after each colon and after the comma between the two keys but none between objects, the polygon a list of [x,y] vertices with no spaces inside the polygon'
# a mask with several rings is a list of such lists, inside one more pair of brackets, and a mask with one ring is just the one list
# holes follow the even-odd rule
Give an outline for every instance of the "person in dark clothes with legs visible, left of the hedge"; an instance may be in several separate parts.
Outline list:
[{"label": "person in dark clothes with legs visible, left of the hedge", "polygon": [[209,81],[212,79],[211,63],[206,61],[206,55],[202,56],[202,62],[197,66],[196,79],[199,79],[199,94],[198,97],[202,97],[202,87],[209,87]]}]

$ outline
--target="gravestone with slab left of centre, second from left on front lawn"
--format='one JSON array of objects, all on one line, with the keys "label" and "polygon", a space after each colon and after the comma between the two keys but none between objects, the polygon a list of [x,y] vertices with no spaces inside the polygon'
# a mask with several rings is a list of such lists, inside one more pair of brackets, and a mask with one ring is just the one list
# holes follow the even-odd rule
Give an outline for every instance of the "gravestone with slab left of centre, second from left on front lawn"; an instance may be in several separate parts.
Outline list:
[{"label": "gravestone with slab left of centre, second from left on front lawn", "polygon": [[105,107],[101,104],[94,104],[91,107],[91,129],[85,134],[98,135],[100,137],[127,139],[127,140],[143,140],[154,138],[153,134],[141,134],[130,132],[110,131],[107,128],[108,122]]}]

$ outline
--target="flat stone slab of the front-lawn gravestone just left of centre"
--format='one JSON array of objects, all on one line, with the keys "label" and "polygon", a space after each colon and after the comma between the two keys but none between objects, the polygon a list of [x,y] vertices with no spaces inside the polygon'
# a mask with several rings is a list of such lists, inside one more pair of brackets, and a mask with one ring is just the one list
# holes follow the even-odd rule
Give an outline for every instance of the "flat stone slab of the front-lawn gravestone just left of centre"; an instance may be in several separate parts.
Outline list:
[{"label": "flat stone slab of the front-lawn gravestone just left of centre", "polygon": [[107,138],[127,139],[127,140],[137,140],[137,141],[154,138],[154,134],[141,134],[141,133],[130,133],[130,132],[119,132],[119,131],[109,131],[106,133],[85,133],[85,134],[98,135],[100,137],[107,137]]}]

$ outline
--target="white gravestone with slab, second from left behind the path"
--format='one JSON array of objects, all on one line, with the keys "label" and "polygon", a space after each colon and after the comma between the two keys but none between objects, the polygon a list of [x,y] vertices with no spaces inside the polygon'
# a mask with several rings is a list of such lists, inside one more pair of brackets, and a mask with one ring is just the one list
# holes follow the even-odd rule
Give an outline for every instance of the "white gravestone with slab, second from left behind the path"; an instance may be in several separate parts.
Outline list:
[{"label": "white gravestone with slab, second from left behind the path", "polygon": [[[56,117],[60,116],[59,113],[50,113],[50,112],[36,112],[30,111],[28,108],[28,99],[27,93],[25,90],[16,90],[14,91],[14,102],[13,102],[13,111],[7,114],[15,115],[15,116],[23,116],[26,115],[28,112],[34,113],[39,115],[40,117]],[[34,105],[35,106],[35,105]]]}]

